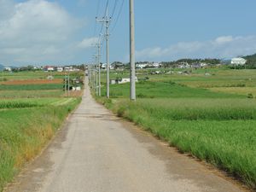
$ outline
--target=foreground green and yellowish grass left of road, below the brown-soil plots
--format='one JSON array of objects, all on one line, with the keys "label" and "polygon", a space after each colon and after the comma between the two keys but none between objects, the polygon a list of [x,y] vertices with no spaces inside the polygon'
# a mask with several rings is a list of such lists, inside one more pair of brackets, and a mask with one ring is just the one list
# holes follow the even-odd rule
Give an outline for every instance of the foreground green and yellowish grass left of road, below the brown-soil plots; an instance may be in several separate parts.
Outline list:
[{"label": "foreground green and yellowish grass left of road, below the brown-soil plots", "polygon": [[55,105],[57,98],[2,102],[9,109],[0,113],[0,191],[40,152],[81,98],[64,100],[60,105]]}]

